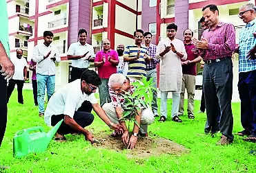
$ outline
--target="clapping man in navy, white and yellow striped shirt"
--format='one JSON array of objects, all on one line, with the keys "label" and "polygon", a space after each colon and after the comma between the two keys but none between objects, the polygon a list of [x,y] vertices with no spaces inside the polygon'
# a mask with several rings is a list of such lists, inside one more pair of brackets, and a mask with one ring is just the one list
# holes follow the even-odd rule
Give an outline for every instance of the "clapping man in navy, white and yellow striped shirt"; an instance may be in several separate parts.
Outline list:
[{"label": "clapping man in navy, white and yellow striped shirt", "polygon": [[124,61],[128,62],[127,76],[141,80],[142,76],[146,76],[146,60],[151,60],[151,58],[148,56],[147,48],[141,45],[144,39],[144,31],[136,30],[133,36],[135,44],[126,46]]}]

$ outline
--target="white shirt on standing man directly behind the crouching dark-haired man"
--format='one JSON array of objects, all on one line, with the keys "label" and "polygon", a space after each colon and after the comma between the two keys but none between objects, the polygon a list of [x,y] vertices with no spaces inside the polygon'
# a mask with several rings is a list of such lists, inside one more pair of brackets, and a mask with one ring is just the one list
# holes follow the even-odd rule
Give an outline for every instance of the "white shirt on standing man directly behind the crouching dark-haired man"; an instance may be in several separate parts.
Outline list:
[{"label": "white shirt on standing man directly behind the crouching dark-haired man", "polygon": [[[86,52],[88,52],[86,54]],[[86,43],[86,45],[81,45],[81,43],[78,41],[76,43],[72,43],[70,47],[68,48],[67,55],[72,55],[72,56],[82,56],[86,54],[86,57],[81,58],[79,60],[71,60],[72,67],[77,67],[77,68],[88,68],[90,66],[90,62],[88,60],[84,60],[91,56],[92,58],[95,58],[95,51],[92,47],[92,45],[89,45]]]}]

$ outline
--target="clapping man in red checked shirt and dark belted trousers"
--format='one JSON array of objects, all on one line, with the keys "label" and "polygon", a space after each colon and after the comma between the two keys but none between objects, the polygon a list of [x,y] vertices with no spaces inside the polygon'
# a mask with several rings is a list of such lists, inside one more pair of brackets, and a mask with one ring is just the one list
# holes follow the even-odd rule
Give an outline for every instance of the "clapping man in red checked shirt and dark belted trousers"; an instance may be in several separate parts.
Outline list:
[{"label": "clapping man in red checked shirt and dark belted trousers", "polygon": [[219,128],[221,140],[217,145],[233,142],[233,115],[231,99],[233,91],[233,64],[231,56],[235,50],[235,27],[230,23],[219,21],[216,5],[207,5],[202,9],[208,29],[204,31],[201,41],[193,39],[204,59],[204,96],[206,114],[211,132],[217,132],[217,116],[220,108]]}]

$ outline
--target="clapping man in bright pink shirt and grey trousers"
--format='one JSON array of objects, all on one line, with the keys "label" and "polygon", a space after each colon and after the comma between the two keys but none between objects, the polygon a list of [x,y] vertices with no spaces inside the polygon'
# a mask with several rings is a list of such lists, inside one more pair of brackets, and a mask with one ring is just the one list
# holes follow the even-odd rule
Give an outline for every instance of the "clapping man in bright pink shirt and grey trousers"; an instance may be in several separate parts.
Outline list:
[{"label": "clapping man in bright pink shirt and grey trousers", "polygon": [[98,51],[95,57],[95,67],[98,69],[101,84],[99,85],[99,100],[101,106],[111,102],[108,93],[108,79],[113,73],[117,73],[119,63],[117,51],[110,49],[110,41],[102,41],[103,50]]}]

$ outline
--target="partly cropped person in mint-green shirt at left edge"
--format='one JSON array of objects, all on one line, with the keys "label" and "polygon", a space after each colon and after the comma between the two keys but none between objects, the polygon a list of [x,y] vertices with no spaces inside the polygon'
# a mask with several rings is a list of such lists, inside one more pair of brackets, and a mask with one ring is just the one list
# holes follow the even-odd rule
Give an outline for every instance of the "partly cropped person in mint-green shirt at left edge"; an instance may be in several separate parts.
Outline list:
[{"label": "partly cropped person in mint-green shirt at left edge", "polygon": [[[6,122],[7,122],[7,87],[6,79],[12,78],[14,73],[14,65],[8,58],[10,56],[10,49],[8,44],[8,16],[6,1],[0,1],[0,21],[1,32],[0,32],[0,146],[3,140],[4,132],[6,132]],[[6,77],[4,77],[6,76]]]}]

